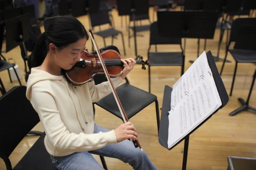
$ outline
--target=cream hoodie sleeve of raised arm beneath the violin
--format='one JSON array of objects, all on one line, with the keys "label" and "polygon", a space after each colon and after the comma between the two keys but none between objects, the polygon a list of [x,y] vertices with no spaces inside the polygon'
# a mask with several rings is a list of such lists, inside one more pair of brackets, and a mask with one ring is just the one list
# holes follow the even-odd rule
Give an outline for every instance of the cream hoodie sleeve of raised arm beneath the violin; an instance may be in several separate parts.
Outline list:
[{"label": "cream hoodie sleeve of raised arm beneath the violin", "polygon": [[[124,80],[119,76],[111,79],[115,88]],[[99,85],[95,85],[94,82],[88,82],[90,96],[92,102],[97,102],[103,97],[111,93],[109,82],[102,82]]]}]

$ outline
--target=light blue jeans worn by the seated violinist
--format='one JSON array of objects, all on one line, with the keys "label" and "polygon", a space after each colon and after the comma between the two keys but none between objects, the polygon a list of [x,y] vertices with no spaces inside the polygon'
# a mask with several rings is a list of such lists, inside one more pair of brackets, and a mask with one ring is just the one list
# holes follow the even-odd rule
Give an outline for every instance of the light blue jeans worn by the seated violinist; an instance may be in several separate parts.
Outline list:
[{"label": "light blue jeans worn by the seated violinist", "polygon": [[[93,133],[100,131],[108,132],[109,130],[95,124]],[[68,156],[51,156],[51,158],[58,170],[104,170],[91,153],[120,159],[129,163],[134,170],[157,170],[145,151],[142,152],[139,147],[135,148],[129,140],[108,144],[98,150],[76,152]]]}]

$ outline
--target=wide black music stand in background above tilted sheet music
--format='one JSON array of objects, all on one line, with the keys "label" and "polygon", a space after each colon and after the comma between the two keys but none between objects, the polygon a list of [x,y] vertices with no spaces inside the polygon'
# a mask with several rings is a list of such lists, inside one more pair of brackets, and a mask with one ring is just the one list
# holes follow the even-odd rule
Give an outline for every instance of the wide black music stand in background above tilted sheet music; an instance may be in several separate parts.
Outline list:
[{"label": "wide black music stand in background above tilted sheet music", "polygon": [[[218,20],[217,11],[158,11],[158,33],[172,38],[184,38],[184,54],[186,38],[212,39]],[[172,23],[172,24],[166,24]],[[206,42],[205,42],[206,44]],[[199,56],[198,43],[198,55]],[[204,46],[204,50],[206,45]]]}]

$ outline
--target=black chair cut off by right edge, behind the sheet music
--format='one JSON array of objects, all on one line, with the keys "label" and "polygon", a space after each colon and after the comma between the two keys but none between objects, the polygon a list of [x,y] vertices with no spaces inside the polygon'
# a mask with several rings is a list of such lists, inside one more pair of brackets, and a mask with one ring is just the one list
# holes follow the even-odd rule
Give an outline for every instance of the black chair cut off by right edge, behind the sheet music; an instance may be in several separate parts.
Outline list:
[{"label": "black chair cut off by right edge, behind the sheet music", "polygon": [[[230,49],[230,43],[234,41],[234,49]],[[230,96],[232,96],[237,64],[239,62],[256,63],[256,18],[238,18],[234,20],[230,33],[230,41],[227,45],[227,51],[230,52],[236,61],[230,90]],[[222,74],[226,59],[227,53],[225,55],[220,74]]]}]

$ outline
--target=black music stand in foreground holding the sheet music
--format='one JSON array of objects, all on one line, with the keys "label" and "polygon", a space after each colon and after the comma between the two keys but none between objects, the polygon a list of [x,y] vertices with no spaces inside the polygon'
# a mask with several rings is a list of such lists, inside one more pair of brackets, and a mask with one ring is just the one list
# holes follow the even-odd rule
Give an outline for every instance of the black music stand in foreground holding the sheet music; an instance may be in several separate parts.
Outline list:
[{"label": "black music stand in foreground holding the sheet music", "polygon": [[[209,67],[211,68],[212,71],[212,76],[214,78],[215,81],[215,85],[217,87],[218,90],[218,94],[221,98],[221,102],[222,105],[220,108],[218,108],[213,114],[215,114],[219,109],[223,108],[227,102],[228,102],[228,95],[227,95],[227,91],[224,87],[224,84],[222,82],[221,76],[218,73],[218,69],[216,67],[214,58],[212,57],[212,54],[210,51],[207,52],[207,60],[208,60],[208,64]],[[195,127],[190,133],[188,133],[185,137],[183,137],[182,139],[180,139],[179,142],[177,142],[173,147],[171,147],[170,149],[168,148],[168,127],[169,127],[169,118],[168,118],[168,111],[171,110],[171,94],[172,94],[172,88],[170,88],[169,86],[165,86],[164,89],[164,95],[163,95],[163,105],[162,105],[162,113],[161,113],[161,119],[160,119],[160,127],[159,127],[159,137],[158,137],[158,141],[159,143],[165,147],[168,150],[171,150],[172,148],[174,148],[177,144],[179,144],[180,142],[183,141],[183,139],[185,139],[185,143],[184,143],[184,152],[183,152],[183,163],[182,163],[182,170],[186,170],[186,162],[187,162],[187,156],[188,156],[188,149],[189,149],[189,135],[192,134],[195,130],[198,129],[198,127],[200,127],[201,125],[203,125],[205,122],[207,122],[207,120],[212,116],[210,115],[209,117],[207,117],[207,119],[204,120],[204,122],[202,122],[200,125],[198,125],[197,127]]]}]

